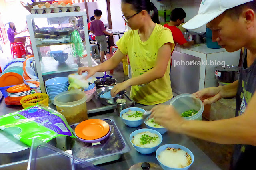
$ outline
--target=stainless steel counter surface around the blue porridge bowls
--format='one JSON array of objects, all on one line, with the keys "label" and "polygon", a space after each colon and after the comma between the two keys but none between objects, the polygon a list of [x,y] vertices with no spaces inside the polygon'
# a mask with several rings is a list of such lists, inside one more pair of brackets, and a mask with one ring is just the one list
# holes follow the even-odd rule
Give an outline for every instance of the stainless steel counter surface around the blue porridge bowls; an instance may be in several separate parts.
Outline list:
[{"label": "stainless steel counter surface around the blue porridge bowls", "polygon": [[[152,106],[144,106],[142,108],[149,110],[152,108]],[[129,141],[129,136],[134,130],[146,128],[144,124],[136,128],[128,127],[123,123],[122,119],[120,118],[120,116],[118,116],[117,113],[108,113],[100,116],[89,117],[89,119],[102,119],[110,116],[114,117],[114,121],[120,129],[120,131],[122,132],[128,145],[130,146],[131,151],[123,154],[119,160],[108,162],[105,164],[100,164],[98,166],[106,170],[128,170],[132,165],[137,164],[139,162],[154,162],[158,164],[155,152],[149,155],[140,154],[133,148],[131,142]],[[186,135],[166,132],[162,136],[163,141],[161,143],[161,146],[169,143],[180,144],[182,146],[189,148],[193,152],[195,160],[192,166],[190,167],[190,170],[220,170],[220,168],[214,162],[212,162],[212,160],[210,160],[210,158],[206,154],[204,154],[204,152],[202,152],[202,150],[200,150]],[[24,164],[24,166],[26,166],[26,164]]]}]

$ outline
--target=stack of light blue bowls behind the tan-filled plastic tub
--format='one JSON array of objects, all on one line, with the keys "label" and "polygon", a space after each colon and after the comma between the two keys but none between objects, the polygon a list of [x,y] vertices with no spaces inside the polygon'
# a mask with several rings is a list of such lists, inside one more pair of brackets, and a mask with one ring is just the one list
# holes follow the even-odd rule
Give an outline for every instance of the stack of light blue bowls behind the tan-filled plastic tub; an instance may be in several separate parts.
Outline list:
[{"label": "stack of light blue bowls behind the tan-filled plastic tub", "polygon": [[54,97],[63,91],[68,91],[68,78],[67,77],[55,77],[45,81],[46,92],[49,99],[54,103]]}]

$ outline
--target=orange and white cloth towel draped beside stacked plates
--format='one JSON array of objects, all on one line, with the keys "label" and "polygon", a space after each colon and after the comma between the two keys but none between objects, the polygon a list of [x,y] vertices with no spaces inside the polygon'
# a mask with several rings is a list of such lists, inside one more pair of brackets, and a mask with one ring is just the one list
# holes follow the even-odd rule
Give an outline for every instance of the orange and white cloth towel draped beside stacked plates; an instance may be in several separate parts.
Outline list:
[{"label": "orange and white cloth towel draped beside stacked plates", "polygon": [[30,88],[35,89],[35,91],[40,92],[40,83],[36,75],[36,72],[30,67],[34,59],[34,55],[27,55],[27,59],[23,62],[23,81]]}]

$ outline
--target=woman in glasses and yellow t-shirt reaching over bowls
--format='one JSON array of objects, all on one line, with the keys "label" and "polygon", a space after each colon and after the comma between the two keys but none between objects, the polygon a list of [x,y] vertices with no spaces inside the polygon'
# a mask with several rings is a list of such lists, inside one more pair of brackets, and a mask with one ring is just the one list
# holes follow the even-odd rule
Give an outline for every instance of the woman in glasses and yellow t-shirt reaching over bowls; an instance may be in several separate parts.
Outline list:
[{"label": "woman in glasses and yellow t-shirt reaching over bowls", "polygon": [[[122,0],[122,17],[132,29],[116,42],[118,50],[104,63],[95,67],[80,67],[78,73],[114,69],[125,55],[129,56],[132,78],[118,83],[111,95],[131,88],[130,96],[144,105],[156,105],[172,99],[170,55],[174,49],[172,32],[159,24],[158,11],[150,0]],[[150,11],[154,11],[152,17]]]}]

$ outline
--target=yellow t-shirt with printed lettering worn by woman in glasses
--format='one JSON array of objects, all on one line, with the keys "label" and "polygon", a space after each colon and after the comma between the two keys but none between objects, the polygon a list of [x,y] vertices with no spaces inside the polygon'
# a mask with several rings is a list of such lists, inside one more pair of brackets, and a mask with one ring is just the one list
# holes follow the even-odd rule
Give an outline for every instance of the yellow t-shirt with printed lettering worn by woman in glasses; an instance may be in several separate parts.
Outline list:
[{"label": "yellow t-shirt with printed lettering worn by woman in glasses", "polygon": [[[146,73],[156,65],[158,49],[165,43],[174,41],[172,32],[160,24],[156,24],[147,41],[141,41],[138,30],[129,30],[116,42],[118,49],[125,55],[128,54],[131,65],[132,77]],[[164,77],[151,81],[142,86],[132,86],[130,96],[134,101],[144,105],[164,103],[172,98],[170,81],[170,60]]]}]

